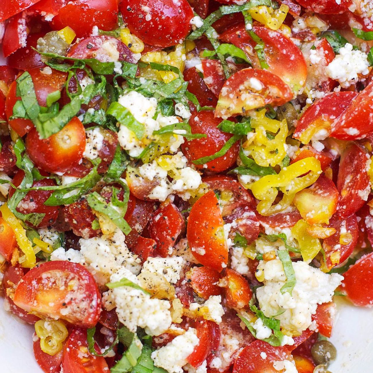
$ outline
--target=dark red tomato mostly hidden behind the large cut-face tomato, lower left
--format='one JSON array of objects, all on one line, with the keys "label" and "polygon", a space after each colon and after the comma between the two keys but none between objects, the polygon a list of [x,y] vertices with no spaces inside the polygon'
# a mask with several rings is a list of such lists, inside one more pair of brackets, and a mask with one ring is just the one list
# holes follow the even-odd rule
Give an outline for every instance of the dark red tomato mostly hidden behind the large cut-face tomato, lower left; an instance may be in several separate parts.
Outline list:
[{"label": "dark red tomato mostly hidden behind the large cut-face tomato, lower left", "polygon": [[[4,291],[4,298],[5,302],[9,304],[9,311],[18,316],[21,320],[25,321],[26,323],[29,324],[35,324],[39,319],[39,317],[32,315],[22,308],[19,308],[16,306],[13,302],[13,300],[9,297],[7,294],[7,289],[13,288],[21,281],[25,269],[22,268],[19,264],[16,264],[15,266],[9,266],[7,269],[4,271],[4,277],[2,280],[2,288]],[[5,304],[4,303],[4,306]]]}]

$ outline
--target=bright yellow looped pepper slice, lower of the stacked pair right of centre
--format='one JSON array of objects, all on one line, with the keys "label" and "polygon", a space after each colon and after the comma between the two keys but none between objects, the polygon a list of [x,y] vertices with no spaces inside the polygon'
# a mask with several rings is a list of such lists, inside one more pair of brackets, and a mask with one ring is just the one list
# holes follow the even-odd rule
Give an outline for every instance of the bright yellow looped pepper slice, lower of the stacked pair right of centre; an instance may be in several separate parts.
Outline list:
[{"label": "bright yellow looped pepper slice, lower of the stacked pair right of centre", "polygon": [[[285,210],[292,203],[295,193],[313,184],[321,173],[320,161],[308,157],[283,167],[278,175],[263,176],[250,185],[254,197],[260,200],[258,213],[269,216]],[[279,203],[272,205],[278,194],[277,188],[283,192],[283,197]]]}]

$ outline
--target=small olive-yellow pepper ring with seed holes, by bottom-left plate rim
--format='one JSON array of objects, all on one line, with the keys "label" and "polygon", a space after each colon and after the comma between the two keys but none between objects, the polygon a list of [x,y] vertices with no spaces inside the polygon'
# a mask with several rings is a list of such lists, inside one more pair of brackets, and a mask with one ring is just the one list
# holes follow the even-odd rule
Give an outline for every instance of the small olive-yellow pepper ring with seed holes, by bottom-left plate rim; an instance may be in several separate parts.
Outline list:
[{"label": "small olive-yellow pepper ring with seed holes, by bottom-left plate rim", "polygon": [[40,338],[41,351],[51,356],[62,350],[63,341],[69,335],[65,324],[57,320],[38,320],[35,333]]}]

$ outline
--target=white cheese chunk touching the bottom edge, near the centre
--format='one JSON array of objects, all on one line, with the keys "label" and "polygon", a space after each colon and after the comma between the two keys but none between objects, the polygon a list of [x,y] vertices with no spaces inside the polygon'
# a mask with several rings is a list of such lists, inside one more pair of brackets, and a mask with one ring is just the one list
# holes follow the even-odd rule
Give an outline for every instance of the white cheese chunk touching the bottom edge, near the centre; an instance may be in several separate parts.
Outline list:
[{"label": "white cheese chunk touching the bottom edge, near the centre", "polygon": [[169,373],[183,373],[182,367],[188,362],[186,359],[194,351],[194,347],[198,345],[199,341],[197,330],[189,328],[166,346],[152,352],[151,358],[154,365],[166,369]]}]

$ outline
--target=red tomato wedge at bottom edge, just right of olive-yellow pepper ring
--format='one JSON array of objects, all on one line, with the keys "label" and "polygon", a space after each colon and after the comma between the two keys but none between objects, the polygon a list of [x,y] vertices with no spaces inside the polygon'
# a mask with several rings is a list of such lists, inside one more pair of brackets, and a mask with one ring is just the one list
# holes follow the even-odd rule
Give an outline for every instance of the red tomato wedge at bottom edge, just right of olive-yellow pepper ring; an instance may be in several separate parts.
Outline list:
[{"label": "red tomato wedge at bottom edge, just right of olive-yellow pepper ring", "polygon": [[103,356],[88,352],[87,331],[74,329],[66,342],[62,355],[64,373],[108,373],[109,367]]}]

